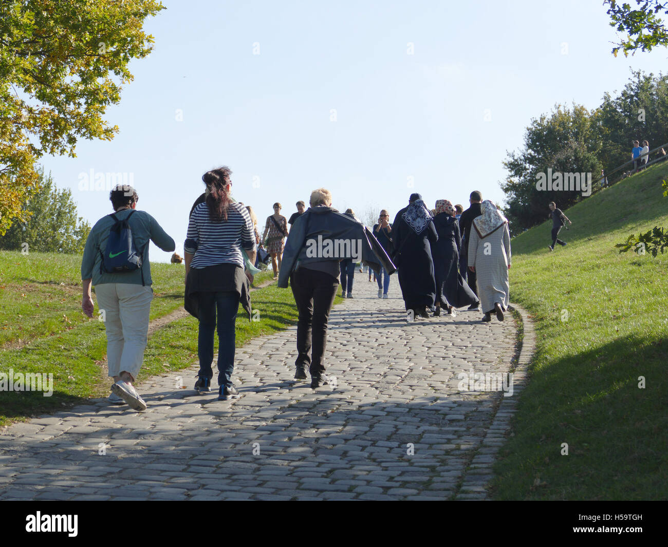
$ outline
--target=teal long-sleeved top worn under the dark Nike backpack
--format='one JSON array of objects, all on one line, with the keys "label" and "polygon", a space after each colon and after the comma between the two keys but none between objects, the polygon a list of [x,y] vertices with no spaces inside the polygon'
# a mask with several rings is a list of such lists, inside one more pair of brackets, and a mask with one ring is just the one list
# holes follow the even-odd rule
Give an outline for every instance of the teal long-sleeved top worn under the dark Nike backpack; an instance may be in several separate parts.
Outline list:
[{"label": "teal long-sleeved top worn under the dark Nike backpack", "polygon": [[[132,209],[124,209],[114,214],[119,220],[124,220],[130,214],[130,211]],[[92,278],[93,285],[102,285],[103,283],[142,285],[143,273],[143,285],[151,285],[151,264],[148,261],[149,240],[167,252],[172,252],[176,248],[176,244],[158,224],[158,221],[146,211],[135,210],[128,223],[132,228],[135,246],[138,250],[143,249],[141,270],[122,273],[107,273],[102,270],[102,252],[107,244],[109,228],[114,226],[114,219],[106,215],[95,223],[93,229],[90,230],[90,234],[88,234],[86,248],[83,249],[83,258],[81,259],[81,279]]]}]

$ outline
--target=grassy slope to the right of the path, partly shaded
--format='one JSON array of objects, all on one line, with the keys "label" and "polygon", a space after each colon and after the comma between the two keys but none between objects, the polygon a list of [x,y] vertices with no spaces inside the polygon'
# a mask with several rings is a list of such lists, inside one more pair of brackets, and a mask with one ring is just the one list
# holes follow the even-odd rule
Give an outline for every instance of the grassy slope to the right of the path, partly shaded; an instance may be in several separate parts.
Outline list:
[{"label": "grassy slope to the right of the path, partly shaded", "polygon": [[668,498],[668,256],[615,248],[668,226],[667,175],[654,166],[570,208],[566,247],[548,250],[551,221],[512,240],[511,300],[537,351],[496,499]]}]

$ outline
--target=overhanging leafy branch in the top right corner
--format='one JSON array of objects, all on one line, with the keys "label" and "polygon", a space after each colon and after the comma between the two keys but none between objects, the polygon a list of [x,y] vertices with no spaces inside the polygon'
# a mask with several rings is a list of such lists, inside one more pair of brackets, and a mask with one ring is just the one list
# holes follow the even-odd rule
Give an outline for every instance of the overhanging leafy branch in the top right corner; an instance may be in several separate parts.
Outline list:
[{"label": "overhanging leafy branch in the top right corner", "polygon": [[668,45],[668,31],[663,25],[659,14],[668,14],[668,2],[657,0],[635,0],[635,8],[629,3],[620,3],[617,0],[605,0],[603,5],[609,5],[607,13],[612,19],[610,25],[620,32],[627,33],[625,39],[613,47],[613,55],[617,57],[619,50],[625,57],[635,55],[635,52],[651,51],[657,45]]}]

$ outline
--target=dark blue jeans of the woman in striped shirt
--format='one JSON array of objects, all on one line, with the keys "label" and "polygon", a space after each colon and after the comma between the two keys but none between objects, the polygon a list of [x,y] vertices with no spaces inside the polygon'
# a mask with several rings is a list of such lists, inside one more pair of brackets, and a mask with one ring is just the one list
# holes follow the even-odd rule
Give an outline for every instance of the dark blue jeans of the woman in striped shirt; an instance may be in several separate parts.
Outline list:
[{"label": "dark blue jeans of the woman in striped shirt", "polygon": [[198,375],[211,379],[213,371],[213,336],[218,313],[218,385],[232,385],[234,371],[234,323],[239,309],[239,295],[235,291],[199,293],[200,331],[197,355],[200,358]]}]

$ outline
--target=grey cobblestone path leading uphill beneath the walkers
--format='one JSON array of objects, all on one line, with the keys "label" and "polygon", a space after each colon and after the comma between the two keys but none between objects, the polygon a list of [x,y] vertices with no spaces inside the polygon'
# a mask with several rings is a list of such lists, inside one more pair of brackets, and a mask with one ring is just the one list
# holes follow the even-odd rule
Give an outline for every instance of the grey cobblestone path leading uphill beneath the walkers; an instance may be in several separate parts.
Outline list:
[{"label": "grey cobblestone path leading uphill beneath the walkers", "polygon": [[[295,327],[255,339],[237,349],[240,399],[197,394],[194,366],[180,373],[188,389],[176,374],[144,382],[142,413],[92,399],[4,429],[0,499],[486,498],[520,389],[489,383],[510,370],[512,316],[407,323],[395,276],[389,299],[376,293],[357,272],[331,313],[335,386],[293,380]],[[488,384],[462,391],[460,373]]]}]

